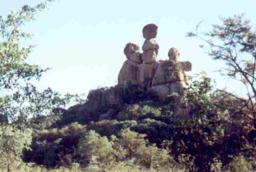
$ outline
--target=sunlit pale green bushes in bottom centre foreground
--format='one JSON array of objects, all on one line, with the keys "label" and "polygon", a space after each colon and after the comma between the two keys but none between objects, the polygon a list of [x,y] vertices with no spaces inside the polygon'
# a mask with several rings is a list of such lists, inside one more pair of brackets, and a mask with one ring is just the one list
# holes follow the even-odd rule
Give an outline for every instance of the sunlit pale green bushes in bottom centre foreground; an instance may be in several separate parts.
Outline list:
[{"label": "sunlit pale green bushes in bottom centre foreground", "polygon": [[149,144],[145,137],[126,128],[120,131],[119,138],[111,136],[109,141],[91,130],[80,138],[78,149],[90,166],[108,167],[130,162],[144,168],[160,169],[176,165],[167,150]]}]

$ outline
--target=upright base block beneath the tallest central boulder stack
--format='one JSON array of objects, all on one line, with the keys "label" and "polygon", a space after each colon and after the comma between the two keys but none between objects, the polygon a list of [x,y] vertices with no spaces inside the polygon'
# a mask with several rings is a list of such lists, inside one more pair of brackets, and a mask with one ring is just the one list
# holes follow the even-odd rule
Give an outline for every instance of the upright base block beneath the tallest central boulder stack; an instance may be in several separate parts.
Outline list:
[{"label": "upright base block beneath the tallest central boulder stack", "polygon": [[137,70],[137,80],[139,84],[143,84],[147,88],[152,85],[152,79],[155,75],[158,63],[140,64]]}]

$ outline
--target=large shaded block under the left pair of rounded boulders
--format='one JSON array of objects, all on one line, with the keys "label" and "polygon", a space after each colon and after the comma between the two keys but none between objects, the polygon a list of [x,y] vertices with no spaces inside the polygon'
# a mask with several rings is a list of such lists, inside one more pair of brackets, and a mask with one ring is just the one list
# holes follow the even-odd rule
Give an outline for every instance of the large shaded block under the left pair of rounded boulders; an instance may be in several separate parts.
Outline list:
[{"label": "large shaded block under the left pair of rounded boulders", "polygon": [[123,66],[118,75],[118,85],[138,84],[137,81],[137,70],[139,67],[139,63],[132,62],[130,60],[126,60],[123,63]]}]

